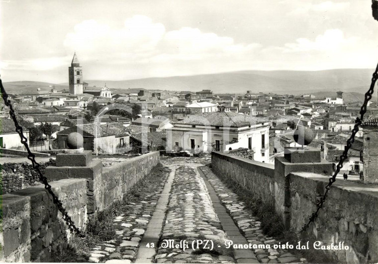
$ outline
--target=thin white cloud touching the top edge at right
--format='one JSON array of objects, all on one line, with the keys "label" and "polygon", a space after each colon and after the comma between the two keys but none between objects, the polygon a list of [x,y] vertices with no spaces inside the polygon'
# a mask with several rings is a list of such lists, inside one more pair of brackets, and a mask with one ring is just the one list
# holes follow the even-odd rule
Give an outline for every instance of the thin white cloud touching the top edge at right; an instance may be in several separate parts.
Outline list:
[{"label": "thin white cloud touching the top edge at right", "polygon": [[308,14],[310,12],[335,12],[342,11],[350,6],[350,2],[333,2],[325,1],[321,3],[306,3],[304,1],[296,2],[296,6],[300,7],[295,8],[294,10],[286,13],[286,15],[302,15]]}]

